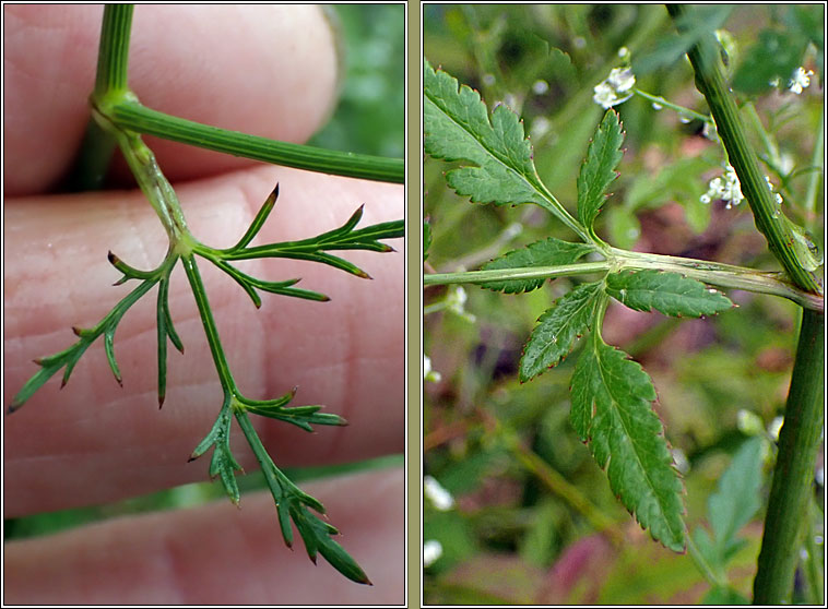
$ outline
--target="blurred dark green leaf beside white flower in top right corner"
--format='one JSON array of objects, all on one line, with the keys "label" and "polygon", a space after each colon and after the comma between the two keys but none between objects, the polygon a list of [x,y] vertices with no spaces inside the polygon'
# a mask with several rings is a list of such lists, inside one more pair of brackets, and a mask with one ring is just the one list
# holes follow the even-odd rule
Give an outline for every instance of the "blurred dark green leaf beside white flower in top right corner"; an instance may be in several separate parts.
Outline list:
[{"label": "blurred dark green leaf beside white flower in top right corner", "polygon": [[745,53],[733,86],[743,93],[759,94],[770,88],[770,82],[779,79],[779,86],[785,88],[793,71],[802,62],[802,55],[808,40],[790,32],[765,29],[759,33],[759,41]]}]

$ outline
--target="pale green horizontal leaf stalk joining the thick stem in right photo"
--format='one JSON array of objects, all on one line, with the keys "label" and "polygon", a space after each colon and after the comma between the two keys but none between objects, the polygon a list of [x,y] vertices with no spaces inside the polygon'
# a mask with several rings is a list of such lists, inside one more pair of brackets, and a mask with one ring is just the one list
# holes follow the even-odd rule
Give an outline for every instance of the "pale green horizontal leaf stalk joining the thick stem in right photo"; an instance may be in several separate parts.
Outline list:
[{"label": "pale green horizontal leaf stalk joining the thick stem in right photo", "polygon": [[694,261],[658,254],[639,254],[613,249],[617,258],[599,262],[561,264],[559,266],[530,266],[497,268],[490,271],[466,271],[462,273],[433,273],[423,276],[423,286],[446,284],[485,284],[508,279],[554,279],[589,273],[618,272],[623,270],[658,270],[681,273],[709,285],[767,294],[788,298],[815,311],[823,311],[825,299],[780,280],[776,274],[761,273],[752,268],[731,266],[714,262]]}]

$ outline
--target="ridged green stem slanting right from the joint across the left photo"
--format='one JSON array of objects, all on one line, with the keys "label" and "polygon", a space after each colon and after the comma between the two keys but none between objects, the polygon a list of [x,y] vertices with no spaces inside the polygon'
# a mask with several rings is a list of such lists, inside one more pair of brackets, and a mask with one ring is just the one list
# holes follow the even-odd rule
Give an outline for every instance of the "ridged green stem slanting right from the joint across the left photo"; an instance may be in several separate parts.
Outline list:
[{"label": "ridged green stem slanting right from the joint across the left photo", "polygon": [[405,181],[405,162],[402,158],[277,142],[173,117],[127,98],[109,105],[105,111],[122,129],[211,151],[322,174],[395,183]]}]

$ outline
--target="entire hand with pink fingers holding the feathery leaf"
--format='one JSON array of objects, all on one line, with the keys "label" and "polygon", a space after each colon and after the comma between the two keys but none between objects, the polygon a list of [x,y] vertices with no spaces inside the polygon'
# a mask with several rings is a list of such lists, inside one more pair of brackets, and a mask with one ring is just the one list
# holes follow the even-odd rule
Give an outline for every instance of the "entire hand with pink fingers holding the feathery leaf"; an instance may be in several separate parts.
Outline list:
[{"label": "entire hand with pink fingers holding the feathery leaf", "polygon": [[[49,194],[70,169],[88,117],[99,7],[7,7],[4,399],[66,348],[69,329],[103,317],[128,287],[106,261],[137,267],[163,256],[165,235],[137,191]],[[217,44],[220,41],[221,44]],[[333,38],[321,13],[299,7],[140,7],[130,84],[152,108],[199,122],[301,141],[324,119],[336,88]],[[198,58],[198,60],[196,60]],[[233,244],[276,182],[280,200],[259,242],[340,226],[365,204],[365,225],[399,218],[403,189],[262,166],[146,139],[176,186],[196,236]],[[116,168],[116,174],[122,168]],[[179,186],[178,182],[189,180]],[[130,183],[130,182],[125,182]],[[394,243],[401,249],[399,243]],[[403,260],[347,254],[372,277],[293,261],[258,261],[253,274],[303,277],[317,303],[243,290],[203,268],[239,386],[274,397],[294,384],[298,404],[324,404],[348,428],[309,435],[256,421],[279,465],[336,463],[403,450]],[[261,271],[261,272],[259,272]],[[154,300],[154,299],[150,299]],[[5,517],[117,501],[205,478],[209,456],[187,458],[210,430],[221,387],[192,296],[174,273],[170,309],[187,348],[169,354],[167,397],[156,404],[154,303],[125,317],[115,345],[123,389],[100,345],[62,392],[52,379],[4,420]],[[241,438],[232,440],[256,468]],[[8,602],[391,604],[403,601],[401,469],[303,485],[327,506],[340,541],[375,583],[314,566],[284,547],[270,495],[129,516],[49,538],[5,545]]]}]

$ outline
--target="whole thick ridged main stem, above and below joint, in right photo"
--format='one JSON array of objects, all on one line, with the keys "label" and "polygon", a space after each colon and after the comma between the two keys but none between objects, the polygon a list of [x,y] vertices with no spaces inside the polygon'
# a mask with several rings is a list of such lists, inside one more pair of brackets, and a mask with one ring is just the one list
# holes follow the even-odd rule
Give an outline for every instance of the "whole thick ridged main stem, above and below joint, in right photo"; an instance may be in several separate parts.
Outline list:
[{"label": "whole thick ridged main stem, above and below joint, in right photo", "polygon": [[[667,4],[678,24],[685,8]],[[702,37],[687,56],[696,72],[696,83],[715,119],[719,136],[738,176],[754,220],[768,240],[768,247],[793,283],[806,291],[821,294],[813,274],[805,270],[793,246],[796,236],[790,220],[776,211],[772,194],[759,170],[755,152],[748,145],[732,93],[718,63],[718,45]],[[799,560],[801,528],[807,493],[823,427],[823,366],[825,318],[821,311],[803,311],[800,341],[785,404],[777,465],[765,520],[765,535],[754,581],[754,602],[781,604],[791,594]]]}]

